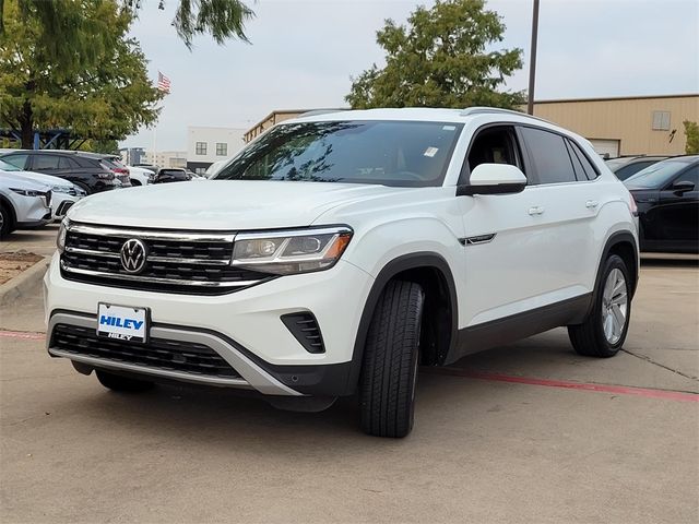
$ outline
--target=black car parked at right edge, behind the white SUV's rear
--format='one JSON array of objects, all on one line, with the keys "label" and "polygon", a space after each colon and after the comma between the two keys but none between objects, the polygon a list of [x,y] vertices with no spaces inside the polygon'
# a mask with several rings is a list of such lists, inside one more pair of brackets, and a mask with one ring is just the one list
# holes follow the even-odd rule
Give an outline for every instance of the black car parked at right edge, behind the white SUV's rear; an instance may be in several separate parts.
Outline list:
[{"label": "black car parked at right edge, behind the white SUV's rear", "polygon": [[699,155],[659,162],[624,183],[638,205],[641,251],[699,252]]}]

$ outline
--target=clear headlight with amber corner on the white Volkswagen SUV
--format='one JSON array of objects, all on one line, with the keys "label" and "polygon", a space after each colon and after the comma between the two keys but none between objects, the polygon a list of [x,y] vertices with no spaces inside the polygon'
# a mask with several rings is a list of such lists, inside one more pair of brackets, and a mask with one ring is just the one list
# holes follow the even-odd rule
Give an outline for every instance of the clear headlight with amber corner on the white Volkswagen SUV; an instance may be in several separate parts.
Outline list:
[{"label": "clear headlight with amber corner on the white Volkswagen SUV", "polygon": [[232,264],[292,275],[332,267],[352,239],[347,226],[236,235]]}]

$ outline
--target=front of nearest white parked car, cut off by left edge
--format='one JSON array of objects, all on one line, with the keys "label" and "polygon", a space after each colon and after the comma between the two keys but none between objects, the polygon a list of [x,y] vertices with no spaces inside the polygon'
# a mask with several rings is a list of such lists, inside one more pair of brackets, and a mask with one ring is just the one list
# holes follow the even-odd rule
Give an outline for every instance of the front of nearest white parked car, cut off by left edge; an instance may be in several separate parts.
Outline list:
[{"label": "front of nearest white parked car, cut off by left edge", "polygon": [[50,187],[4,172],[0,176],[0,238],[51,222],[50,204]]}]

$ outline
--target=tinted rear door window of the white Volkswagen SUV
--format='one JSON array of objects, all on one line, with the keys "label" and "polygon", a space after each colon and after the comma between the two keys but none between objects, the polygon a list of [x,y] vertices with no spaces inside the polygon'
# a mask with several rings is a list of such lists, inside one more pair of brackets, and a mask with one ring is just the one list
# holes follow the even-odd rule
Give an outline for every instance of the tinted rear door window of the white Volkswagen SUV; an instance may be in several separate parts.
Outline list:
[{"label": "tinted rear door window of the white Volkswagen SUV", "polygon": [[535,128],[521,128],[537,180],[535,183],[574,182],[570,155],[564,138]]}]

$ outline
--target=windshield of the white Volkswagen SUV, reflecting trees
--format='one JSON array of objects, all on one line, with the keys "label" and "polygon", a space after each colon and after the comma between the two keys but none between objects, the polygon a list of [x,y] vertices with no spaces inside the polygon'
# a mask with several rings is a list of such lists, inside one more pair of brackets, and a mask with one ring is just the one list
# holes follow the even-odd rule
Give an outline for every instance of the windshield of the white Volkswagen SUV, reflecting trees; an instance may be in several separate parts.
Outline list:
[{"label": "windshield of the white Volkswagen SUV, reflecting trees", "polygon": [[282,124],[213,178],[441,186],[461,128],[413,121]]}]

